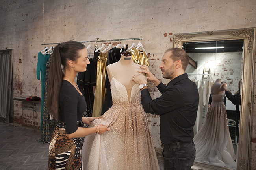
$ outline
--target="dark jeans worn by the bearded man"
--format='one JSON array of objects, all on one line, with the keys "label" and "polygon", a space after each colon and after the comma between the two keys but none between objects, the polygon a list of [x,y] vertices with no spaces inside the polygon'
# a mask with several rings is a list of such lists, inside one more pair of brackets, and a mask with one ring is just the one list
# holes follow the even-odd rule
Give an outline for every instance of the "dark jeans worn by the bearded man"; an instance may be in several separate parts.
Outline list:
[{"label": "dark jeans worn by the bearded man", "polygon": [[164,148],[162,155],[164,170],[191,170],[196,155],[195,144],[192,141],[184,147]]}]

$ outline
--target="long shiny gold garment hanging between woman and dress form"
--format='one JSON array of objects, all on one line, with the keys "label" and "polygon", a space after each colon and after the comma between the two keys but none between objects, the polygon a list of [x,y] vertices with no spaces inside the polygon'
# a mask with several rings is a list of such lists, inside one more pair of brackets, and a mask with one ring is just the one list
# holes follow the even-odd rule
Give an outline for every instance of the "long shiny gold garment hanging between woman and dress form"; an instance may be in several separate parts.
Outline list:
[{"label": "long shiny gold garment hanging between woman and dress form", "polygon": [[101,116],[102,102],[106,99],[105,79],[108,53],[100,53],[97,63],[97,80],[93,104],[93,117]]}]

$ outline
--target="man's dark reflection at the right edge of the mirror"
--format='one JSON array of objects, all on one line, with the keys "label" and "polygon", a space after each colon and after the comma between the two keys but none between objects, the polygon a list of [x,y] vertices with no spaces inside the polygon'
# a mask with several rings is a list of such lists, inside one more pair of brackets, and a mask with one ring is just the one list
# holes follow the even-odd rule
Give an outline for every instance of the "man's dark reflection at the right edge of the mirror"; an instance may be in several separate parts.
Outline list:
[{"label": "man's dark reflection at the right edge of the mirror", "polygon": [[239,131],[238,131],[238,122],[240,120],[240,111],[239,111],[239,105],[241,105],[241,94],[240,94],[240,86],[241,81],[238,82],[238,91],[235,95],[232,95],[226,86],[224,86],[224,90],[226,91],[226,97],[228,100],[230,100],[234,105],[236,105],[236,136],[237,136],[237,143],[238,143],[238,137],[239,137]]}]

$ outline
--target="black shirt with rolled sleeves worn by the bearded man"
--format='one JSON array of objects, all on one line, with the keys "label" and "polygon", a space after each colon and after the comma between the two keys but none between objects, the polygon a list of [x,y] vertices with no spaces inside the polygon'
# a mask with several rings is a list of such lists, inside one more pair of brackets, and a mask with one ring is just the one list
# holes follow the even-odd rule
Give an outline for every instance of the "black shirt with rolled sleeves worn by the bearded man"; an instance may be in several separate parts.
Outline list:
[{"label": "black shirt with rolled sleeves worn by the bearded man", "polygon": [[146,113],[160,115],[160,139],[164,144],[186,143],[193,139],[199,94],[187,73],[157,86],[162,95],[151,99],[148,89],[141,91],[141,104]]}]

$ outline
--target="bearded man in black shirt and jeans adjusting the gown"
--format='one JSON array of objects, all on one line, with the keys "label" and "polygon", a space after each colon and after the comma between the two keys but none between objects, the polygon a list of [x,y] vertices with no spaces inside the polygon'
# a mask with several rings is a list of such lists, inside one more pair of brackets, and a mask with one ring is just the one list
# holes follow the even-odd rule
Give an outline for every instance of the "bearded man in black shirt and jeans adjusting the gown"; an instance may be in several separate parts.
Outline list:
[{"label": "bearded man in black shirt and jeans adjusting the gown", "polygon": [[[186,67],[189,59],[186,52],[180,48],[165,51],[159,68],[163,78],[171,81],[165,86],[148,69],[147,79],[142,74],[133,77],[140,84],[141,104],[146,113],[160,115],[160,139],[163,148],[164,170],[190,170],[195,160],[195,145],[193,143],[193,126],[197,117],[199,94],[197,86],[189,80]],[[162,95],[151,99],[147,80],[154,82]]]}]

